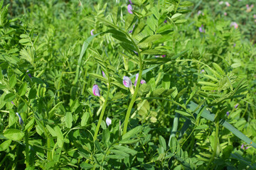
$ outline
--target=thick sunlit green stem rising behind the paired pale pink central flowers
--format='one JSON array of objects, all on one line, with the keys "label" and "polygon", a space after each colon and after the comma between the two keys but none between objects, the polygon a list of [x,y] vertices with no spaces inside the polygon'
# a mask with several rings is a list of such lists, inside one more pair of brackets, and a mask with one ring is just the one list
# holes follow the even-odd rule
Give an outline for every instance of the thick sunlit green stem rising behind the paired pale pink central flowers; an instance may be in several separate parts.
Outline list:
[{"label": "thick sunlit green stem rising behind the paired pale pink central flowers", "polygon": [[139,84],[140,84],[140,80],[142,79],[142,70],[143,70],[143,66],[142,66],[142,62],[140,62],[139,64],[139,77],[137,80],[137,86],[135,87],[135,91],[134,91],[134,95],[132,96],[132,100],[129,103],[128,109],[127,109],[127,114],[125,115],[125,119],[124,119],[124,130],[123,130],[123,135],[127,132],[127,126],[128,126],[128,122],[129,122],[129,115],[131,114],[132,111],[132,106],[134,105],[134,102],[136,100],[138,91],[139,91]]}]

